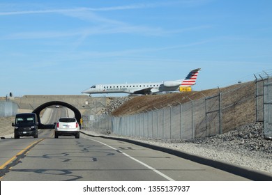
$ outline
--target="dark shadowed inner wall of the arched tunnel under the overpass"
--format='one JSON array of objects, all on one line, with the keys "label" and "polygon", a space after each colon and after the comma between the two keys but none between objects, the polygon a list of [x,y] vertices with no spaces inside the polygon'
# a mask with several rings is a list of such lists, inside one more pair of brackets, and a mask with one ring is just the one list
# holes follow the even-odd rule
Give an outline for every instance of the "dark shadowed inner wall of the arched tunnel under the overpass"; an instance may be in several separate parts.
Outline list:
[{"label": "dark shadowed inner wall of the arched tunnel under the overpass", "polygon": [[[80,128],[82,127],[82,114],[80,113],[80,111],[74,107],[73,105],[71,104],[68,104],[66,102],[61,102],[61,101],[52,101],[52,102],[46,102],[45,104],[41,104],[39,107],[37,107],[36,109],[34,109],[32,111],[32,113],[36,113],[37,114],[37,117],[38,117],[38,128],[39,129],[53,129],[55,124],[43,124],[41,123],[41,120],[40,120],[40,114],[41,112],[43,111],[43,109],[46,109],[48,107],[66,107],[70,110],[72,110],[75,114],[75,118],[77,119],[77,122],[80,124]],[[56,122],[56,121],[54,121]]]}]

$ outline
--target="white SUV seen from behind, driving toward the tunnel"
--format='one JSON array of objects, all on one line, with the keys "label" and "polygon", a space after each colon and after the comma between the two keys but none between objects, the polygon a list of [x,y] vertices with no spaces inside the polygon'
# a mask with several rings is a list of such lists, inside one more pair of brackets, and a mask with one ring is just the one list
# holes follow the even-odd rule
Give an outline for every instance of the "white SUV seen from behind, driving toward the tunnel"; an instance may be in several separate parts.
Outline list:
[{"label": "white SUV seen from behind, driving toward the tunnel", "polygon": [[55,126],[55,138],[59,138],[59,135],[74,135],[76,139],[79,139],[80,125],[77,123],[77,119],[68,117],[59,118]]}]

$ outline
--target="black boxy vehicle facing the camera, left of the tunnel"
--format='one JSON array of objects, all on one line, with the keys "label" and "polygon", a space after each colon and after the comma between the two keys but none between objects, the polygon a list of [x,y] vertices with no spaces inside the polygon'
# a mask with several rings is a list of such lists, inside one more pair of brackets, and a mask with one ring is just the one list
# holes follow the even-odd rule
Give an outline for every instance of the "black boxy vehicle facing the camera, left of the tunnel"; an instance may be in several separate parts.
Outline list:
[{"label": "black boxy vehicle facing the camera, left of the tunnel", "polygon": [[38,118],[35,113],[16,114],[14,127],[14,138],[20,137],[38,138]]}]

